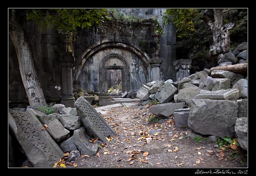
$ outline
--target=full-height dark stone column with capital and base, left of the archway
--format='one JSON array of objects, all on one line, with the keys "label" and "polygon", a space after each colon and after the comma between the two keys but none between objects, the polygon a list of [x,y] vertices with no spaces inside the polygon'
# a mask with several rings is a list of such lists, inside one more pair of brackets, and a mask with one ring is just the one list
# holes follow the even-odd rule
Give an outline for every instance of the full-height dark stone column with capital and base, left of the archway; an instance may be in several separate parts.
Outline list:
[{"label": "full-height dark stone column with capital and base, left of the archway", "polygon": [[72,56],[71,52],[66,52],[66,55],[60,54],[59,57],[62,71],[62,98],[60,99],[60,103],[66,107],[75,107],[72,81],[74,57]]}]

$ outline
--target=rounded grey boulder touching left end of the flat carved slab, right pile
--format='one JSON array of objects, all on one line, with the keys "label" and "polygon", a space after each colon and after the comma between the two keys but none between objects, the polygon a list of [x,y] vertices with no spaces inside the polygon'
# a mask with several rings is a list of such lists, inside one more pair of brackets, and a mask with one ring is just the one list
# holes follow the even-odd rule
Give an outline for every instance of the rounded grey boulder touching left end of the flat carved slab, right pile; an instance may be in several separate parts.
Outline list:
[{"label": "rounded grey boulder touching left end of the flat carved slab, right pile", "polygon": [[196,95],[200,94],[200,88],[184,88],[178,92],[177,101],[185,102],[190,106],[191,99],[194,99]]}]

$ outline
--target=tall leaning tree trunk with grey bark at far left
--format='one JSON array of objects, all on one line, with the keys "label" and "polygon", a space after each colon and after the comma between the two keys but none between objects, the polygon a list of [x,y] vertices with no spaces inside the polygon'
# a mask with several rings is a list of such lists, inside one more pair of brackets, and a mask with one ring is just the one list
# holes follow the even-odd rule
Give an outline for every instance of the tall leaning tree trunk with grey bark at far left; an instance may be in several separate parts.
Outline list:
[{"label": "tall leaning tree trunk with grey bark at far left", "polygon": [[10,9],[9,34],[17,53],[19,70],[29,104],[33,107],[45,106],[47,103],[34,68],[32,53],[25,34],[25,19],[24,10]]}]

